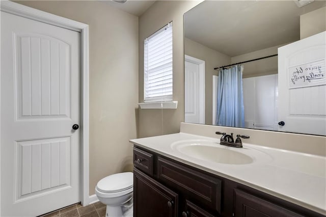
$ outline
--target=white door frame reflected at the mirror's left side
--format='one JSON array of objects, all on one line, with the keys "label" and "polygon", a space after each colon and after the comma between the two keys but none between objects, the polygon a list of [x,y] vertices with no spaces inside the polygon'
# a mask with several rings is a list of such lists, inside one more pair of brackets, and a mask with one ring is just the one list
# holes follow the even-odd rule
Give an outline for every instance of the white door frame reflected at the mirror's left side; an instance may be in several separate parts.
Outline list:
[{"label": "white door frame reflected at the mirror's left side", "polygon": [[205,124],[205,61],[184,55],[184,61],[199,66],[199,123]]}]

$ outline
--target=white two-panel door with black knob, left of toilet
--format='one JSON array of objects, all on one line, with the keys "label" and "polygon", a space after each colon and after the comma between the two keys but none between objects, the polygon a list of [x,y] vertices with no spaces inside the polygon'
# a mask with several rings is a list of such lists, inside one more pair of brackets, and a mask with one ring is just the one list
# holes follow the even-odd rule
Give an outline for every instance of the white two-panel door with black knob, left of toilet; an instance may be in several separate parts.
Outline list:
[{"label": "white two-panel door with black knob, left of toilet", "polygon": [[79,33],[1,13],[1,215],[80,201]]}]

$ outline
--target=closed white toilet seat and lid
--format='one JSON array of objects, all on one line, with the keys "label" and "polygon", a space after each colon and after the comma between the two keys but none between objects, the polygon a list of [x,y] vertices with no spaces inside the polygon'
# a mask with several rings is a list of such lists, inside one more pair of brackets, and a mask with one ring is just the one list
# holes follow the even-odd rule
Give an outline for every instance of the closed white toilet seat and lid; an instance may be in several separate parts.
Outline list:
[{"label": "closed white toilet seat and lid", "polygon": [[106,176],[97,183],[95,189],[104,197],[128,194],[133,191],[133,173],[126,172]]}]

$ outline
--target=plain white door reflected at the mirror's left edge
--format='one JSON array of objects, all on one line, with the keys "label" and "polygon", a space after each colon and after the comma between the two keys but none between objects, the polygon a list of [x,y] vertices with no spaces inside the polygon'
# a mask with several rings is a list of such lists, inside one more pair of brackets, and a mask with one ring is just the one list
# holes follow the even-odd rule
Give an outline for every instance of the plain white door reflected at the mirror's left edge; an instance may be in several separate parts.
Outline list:
[{"label": "plain white door reflected at the mirror's left edge", "polygon": [[184,63],[184,121],[199,123],[199,65]]}]

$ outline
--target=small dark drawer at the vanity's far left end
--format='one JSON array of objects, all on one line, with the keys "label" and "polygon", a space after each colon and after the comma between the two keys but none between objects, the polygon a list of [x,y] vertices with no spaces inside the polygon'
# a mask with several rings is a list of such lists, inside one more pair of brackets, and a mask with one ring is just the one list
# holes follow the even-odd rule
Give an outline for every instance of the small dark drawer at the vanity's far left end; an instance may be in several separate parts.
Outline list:
[{"label": "small dark drawer at the vanity's far left end", "polygon": [[153,176],[153,155],[133,147],[133,166]]}]

